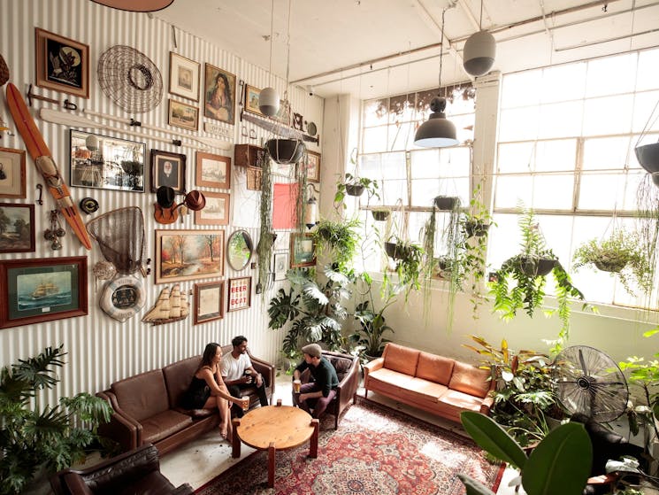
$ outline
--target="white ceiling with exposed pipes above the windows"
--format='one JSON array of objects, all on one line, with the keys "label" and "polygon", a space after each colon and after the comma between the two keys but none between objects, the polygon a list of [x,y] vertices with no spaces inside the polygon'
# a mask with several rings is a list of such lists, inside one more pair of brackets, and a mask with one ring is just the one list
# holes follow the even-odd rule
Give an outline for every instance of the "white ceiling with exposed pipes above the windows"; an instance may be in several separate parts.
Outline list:
[{"label": "white ceiling with exposed pipes above the windows", "polygon": [[[272,20],[272,72],[286,79],[289,2],[288,81],[321,97],[437,88],[444,9],[441,83],[469,79],[479,0],[174,0],[154,15],[266,69]],[[659,46],[659,2],[484,0],[482,27],[497,41],[493,70],[510,73]]]}]

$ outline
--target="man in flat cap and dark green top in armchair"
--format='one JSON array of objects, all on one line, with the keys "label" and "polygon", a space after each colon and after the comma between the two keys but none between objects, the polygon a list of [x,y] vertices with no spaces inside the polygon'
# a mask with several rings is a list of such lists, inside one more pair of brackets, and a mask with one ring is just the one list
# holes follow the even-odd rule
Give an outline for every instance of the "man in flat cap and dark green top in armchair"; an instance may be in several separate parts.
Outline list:
[{"label": "man in flat cap and dark green top in armchair", "polygon": [[303,383],[300,393],[293,394],[293,403],[310,413],[312,417],[319,418],[336,395],[339,377],[332,364],[322,356],[320,345],[305,345],[302,352],[304,352],[304,360],[295,367],[293,379],[299,380],[300,375],[308,368],[312,381]]}]

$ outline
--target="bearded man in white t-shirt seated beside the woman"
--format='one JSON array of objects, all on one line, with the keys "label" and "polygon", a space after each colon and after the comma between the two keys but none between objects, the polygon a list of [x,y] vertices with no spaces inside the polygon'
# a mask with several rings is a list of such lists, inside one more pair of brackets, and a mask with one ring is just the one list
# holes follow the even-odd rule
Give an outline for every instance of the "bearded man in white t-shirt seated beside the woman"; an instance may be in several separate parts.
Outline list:
[{"label": "bearded man in white t-shirt seated beside the woman", "polygon": [[[220,365],[222,379],[226,383],[229,393],[234,397],[242,397],[242,390],[256,387],[261,406],[268,406],[263,376],[252,367],[252,361],[247,355],[247,337],[236,336],[231,344],[234,346],[234,350],[223,356]],[[245,371],[248,370],[251,373],[249,376],[245,374]],[[239,418],[244,414],[242,408],[235,405],[234,412]]]}]

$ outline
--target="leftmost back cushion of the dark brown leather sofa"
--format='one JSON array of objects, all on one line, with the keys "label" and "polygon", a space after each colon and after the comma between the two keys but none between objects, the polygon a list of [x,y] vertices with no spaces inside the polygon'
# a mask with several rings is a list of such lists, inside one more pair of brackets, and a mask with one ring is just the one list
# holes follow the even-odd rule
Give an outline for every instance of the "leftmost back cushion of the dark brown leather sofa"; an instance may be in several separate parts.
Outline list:
[{"label": "leftmost back cushion of the dark brown leather sofa", "polygon": [[169,409],[165,378],[161,369],[147,371],[111,384],[119,407],[138,422]]}]

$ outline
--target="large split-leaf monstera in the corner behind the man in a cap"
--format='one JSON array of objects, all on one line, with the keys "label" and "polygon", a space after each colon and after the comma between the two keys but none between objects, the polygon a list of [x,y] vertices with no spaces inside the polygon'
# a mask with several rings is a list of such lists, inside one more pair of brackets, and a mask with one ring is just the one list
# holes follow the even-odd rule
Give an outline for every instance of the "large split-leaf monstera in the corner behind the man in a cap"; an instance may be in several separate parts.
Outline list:
[{"label": "large split-leaf monstera in the corner behind the man in a cap", "polygon": [[326,267],[326,282],[317,282],[316,270],[288,270],[290,290],[280,289],[271,299],[268,315],[270,329],[291,323],[284,337],[283,352],[288,358],[299,356],[300,347],[322,341],[331,351],[344,347],[341,321],[348,316],[344,301],[350,298],[354,275],[343,273],[337,265]]}]

